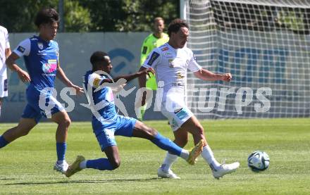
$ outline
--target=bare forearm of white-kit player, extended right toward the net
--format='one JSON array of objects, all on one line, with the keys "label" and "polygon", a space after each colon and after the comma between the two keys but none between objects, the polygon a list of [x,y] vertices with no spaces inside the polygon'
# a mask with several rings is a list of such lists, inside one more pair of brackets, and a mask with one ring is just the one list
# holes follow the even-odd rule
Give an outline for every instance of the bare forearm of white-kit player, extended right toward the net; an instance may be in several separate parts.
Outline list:
[{"label": "bare forearm of white-kit player, extended right toward the net", "polygon": [[204,68],[198,70],[197,72],[194,72],[194,75],[201,80],[209,81],[223,80],[225,82],[230,82],[230,80],[232,79],[232,75],[230,73],[216,74]]}]

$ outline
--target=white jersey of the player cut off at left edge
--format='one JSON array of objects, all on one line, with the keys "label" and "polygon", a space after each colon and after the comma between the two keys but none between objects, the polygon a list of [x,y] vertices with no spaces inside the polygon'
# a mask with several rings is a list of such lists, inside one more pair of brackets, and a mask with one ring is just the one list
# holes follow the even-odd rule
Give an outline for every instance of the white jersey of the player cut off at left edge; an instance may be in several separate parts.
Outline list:
[{"label": "white jersey of the player cut off at left edge", "polygon": [[0,77],[6,77],[6,49],[10,48],[8,30],[0,26]]}]

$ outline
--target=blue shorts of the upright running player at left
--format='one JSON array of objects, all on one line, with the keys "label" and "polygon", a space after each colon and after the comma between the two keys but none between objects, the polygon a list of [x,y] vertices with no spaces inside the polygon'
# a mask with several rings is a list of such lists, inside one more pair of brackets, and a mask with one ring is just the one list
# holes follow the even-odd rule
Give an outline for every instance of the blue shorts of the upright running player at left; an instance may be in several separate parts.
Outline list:
[{"label": "blue shorts of the upright running player at left", "polygon": [[[51,115],[63,111],[64,108],[49,92],[40,92],[31,85],[27,88],[27,105],[24,108],[22,118],[35,118],[35,122],[39,122],[42,116],[51,118]],[[44,101],[44,107],[40,108],[39,99]]]}]

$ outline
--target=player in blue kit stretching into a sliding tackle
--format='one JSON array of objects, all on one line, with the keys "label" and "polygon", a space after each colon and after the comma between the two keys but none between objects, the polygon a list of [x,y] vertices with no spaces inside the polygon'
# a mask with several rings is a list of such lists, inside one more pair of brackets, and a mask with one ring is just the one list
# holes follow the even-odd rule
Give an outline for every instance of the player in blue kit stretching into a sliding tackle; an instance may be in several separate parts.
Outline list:
[{"label": "player in blue kit stretching into a sliding tackle", "polygon": [[97,170],[114,170],[118,168],[120,157],[115,135],[149,139],[159,148],[185,159],[187,163],[192,165],[195,163],[197,156],[202,152],[203,140],[192,151],[187,151],[139,120],[116,113],[111,87],[117,87],[141,75],[147,75],[154,72],[153,69],[149,68],[132,75],[123,75],[112,79],[109,75],[112,69],[111,60],[106,53],[103,51],[94,52],[90,62],[92,63],[92,70],[89,70],[83,77],[84,90],[93,113],[92,129],[97,137],[101,151],[106,153],[107,158],[85,161],[83,156],[77,156],[75,162],[66,171],[67,177],[85,168]]}]

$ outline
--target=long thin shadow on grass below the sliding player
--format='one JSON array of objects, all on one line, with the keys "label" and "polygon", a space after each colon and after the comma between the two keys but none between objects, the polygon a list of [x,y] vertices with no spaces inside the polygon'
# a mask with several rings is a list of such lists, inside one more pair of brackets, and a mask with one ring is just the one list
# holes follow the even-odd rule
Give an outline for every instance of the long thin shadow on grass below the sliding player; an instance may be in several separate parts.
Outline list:
[{"label": "long thin shadow on grass below the sliding player", "polygon": [[106,179],[106,180],[66,180],[55,182],[16,182],[3,185],[40,185],[40,184],[97,184],[97,183],[113,183],[113,182],[149,182],[154,180],[163,180],[159,177],[147,179]]}]

